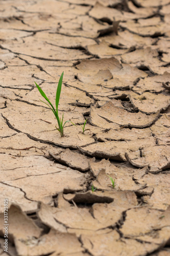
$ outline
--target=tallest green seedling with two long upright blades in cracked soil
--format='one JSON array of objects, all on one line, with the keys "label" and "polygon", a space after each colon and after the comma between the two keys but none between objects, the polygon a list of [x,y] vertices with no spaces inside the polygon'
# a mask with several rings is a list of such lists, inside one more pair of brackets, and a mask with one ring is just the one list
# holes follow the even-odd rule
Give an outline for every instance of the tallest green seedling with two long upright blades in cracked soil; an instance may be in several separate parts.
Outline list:
[{"label": "tallest green seedling with two long upright blades in cracked soil", "polygon": [[[65,121],[64,124],[63,124],[64,114],[62,115],[62,119],[59,118],[59,115],[58,115],[58,105],[59,105],[59,100],[60,100],[60,93],[61,93],[63,74],[64,74],[64,72],[60,76],[60,79],[59,79],[59,82],[58,82],[58,87],[57,87],[57,92],[56,92],[56,110],[55,110],[54,106],[52,105],[52,103],[50,102],[50,100],[46,97],[45,93],[42,91],[42,89],[35,82],[36,87],[38,88],[38,91],[40,92],[41,96],[50,104],[50,105],[48,105],[46,102],[41,100],[43,103],[45,103],[53,111],[53,113],[54,113],[54,115],[55,115],[55,117],[57,119],[58,126],[59,126],[58,128],[56,127],[56,129],[60,132],[61,137],[64,137],[64,125],[67,122],[71,122],[71,121]],[[72,123],[72,124],[74,124],[74,123]]]}]

